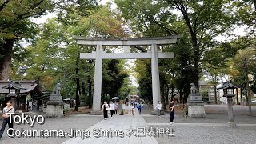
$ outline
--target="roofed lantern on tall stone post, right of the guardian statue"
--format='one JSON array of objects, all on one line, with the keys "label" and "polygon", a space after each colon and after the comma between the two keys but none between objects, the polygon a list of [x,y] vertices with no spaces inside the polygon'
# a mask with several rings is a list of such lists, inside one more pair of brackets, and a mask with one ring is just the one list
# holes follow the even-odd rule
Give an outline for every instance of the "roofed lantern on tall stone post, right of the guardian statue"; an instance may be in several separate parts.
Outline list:
[{"label": "roofed lantern on tall stone post, right of the guardian statue", "polygon": [[233,97],[234,97],[234,90],[238,88],[239,88],[238,86],[234,85],[230,81],[224,82],[222,87],[218,87],[218,89],[223,89],[223,92],[224,92],[223,97],[227,98],[228,115],[229,115],[228,127],[236,127],[234,123],[234,115],[233,115]]}]

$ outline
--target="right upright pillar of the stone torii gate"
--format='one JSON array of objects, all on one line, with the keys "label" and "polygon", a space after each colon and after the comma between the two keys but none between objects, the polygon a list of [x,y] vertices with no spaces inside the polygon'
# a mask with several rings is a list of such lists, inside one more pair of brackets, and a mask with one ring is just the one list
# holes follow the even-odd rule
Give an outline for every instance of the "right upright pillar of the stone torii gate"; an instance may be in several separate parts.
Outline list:
[{"label": "right upright pillar of the stone torii gate", "polygon": [[158,69],[158,46],[156,44],[151,45],[151,73],[152,73],[152,91],[153,91],[153,109],[157,106],[158,101],[161,102],[160,95],[160,78]]}]

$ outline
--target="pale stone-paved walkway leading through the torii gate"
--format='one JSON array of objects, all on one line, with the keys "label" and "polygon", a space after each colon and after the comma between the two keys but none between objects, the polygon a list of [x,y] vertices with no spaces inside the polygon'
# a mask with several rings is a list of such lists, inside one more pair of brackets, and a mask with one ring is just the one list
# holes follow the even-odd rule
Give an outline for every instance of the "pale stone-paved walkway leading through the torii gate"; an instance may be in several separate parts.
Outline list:
[{"label": "pale stone-paved walkway leading through the torii gate", "polygon": [[[73,143],[90,143],[90,144],[114,144],[114,143],[122,143],[122,144],[130,144],[130,143],[146,143],[146,144],[157,144],[158,142],[154,137],[150,136],[138,136],[138,131],[142,130],[140,128],[148,129],[149,126],[146,124],[144,118],[141,115],[138,115],[138,109],[135,109],[135,115],[131,114],[125,114],[125,115],[114,115],[112,118],[108,118],[107,120],[102,120],[101,122],[98,122],[94,126],[90,126],[87,130],[90,131],[90,138],[70,138],[66,142],[63,142],[63,144],[73,144]],[[109,114],[110,117],[110,114]],[[94,134],[98,134],[94,132],[94,130],[102,129],[102,135],[100,138],[97,138],[98,135],[95,137]],[[118,137],[114,134],[114,136],[106,136],[103,134],[106,134],[106,130],[122,130],[123,138]],[[105,131],[103,131],[105,130]],[[137,131],[138,130],[138,131]],[[130,133],[133,131],[133,133]],[[139,131],[141,132],[141,131]],[[110,133],[109,133],[110,134]],[[131,135],[130,135],[131,134]],[[142,133],[139,133],[142,134]],[[136,136],[135,136],[136,135]]]}]

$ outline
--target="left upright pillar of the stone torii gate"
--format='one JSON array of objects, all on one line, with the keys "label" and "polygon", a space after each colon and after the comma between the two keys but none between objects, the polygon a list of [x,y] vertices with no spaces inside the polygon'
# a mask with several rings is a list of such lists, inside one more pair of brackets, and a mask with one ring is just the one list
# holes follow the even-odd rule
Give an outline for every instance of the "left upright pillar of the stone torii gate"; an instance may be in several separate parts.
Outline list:
[{"label": "left upright pillar of the stone torii gate", "polygon": [[[100,111],[101,107],[101,96],[102,96],[102,45],[97,45],[96,49],[96,62],[94,71],[94,98],[93,98],[93,109],[90,114],[96,114]],[[97,113],[99,114],[99,113]],[[100,113],[102,114],[102,113]]]}]

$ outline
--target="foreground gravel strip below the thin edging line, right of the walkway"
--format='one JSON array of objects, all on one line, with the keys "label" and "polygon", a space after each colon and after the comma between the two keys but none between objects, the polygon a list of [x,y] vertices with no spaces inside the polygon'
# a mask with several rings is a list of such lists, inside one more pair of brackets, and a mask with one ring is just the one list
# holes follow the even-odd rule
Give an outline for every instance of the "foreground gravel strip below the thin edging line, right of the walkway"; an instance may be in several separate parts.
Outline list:
[{"label": "foreground gravel strip below the thin edging line, right of the walkway", "polygon": [[[158,126],[159,127],[159,126]],[[159,144],[166,143],[255,143],[256,127],[238,126],[166,126],[174,130],[174,137],[155,137]]]}]

